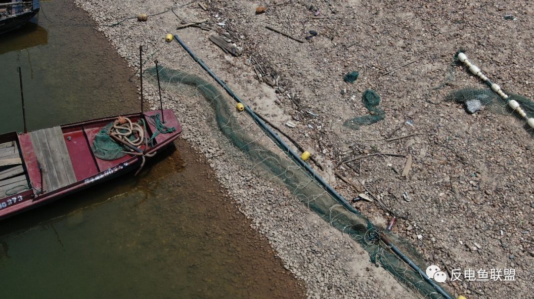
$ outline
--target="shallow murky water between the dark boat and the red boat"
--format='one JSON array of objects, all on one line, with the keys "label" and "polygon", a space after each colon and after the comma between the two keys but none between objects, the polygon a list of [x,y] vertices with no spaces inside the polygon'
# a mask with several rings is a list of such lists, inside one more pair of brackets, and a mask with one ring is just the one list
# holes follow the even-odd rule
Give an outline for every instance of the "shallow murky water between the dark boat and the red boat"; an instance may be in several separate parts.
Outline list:
[{"label": "shallow murky water between the dark boat and the red boat", "polygon": [[138,111],[133,71],[87,14],[64,0],[41,6],[38,25],[0,36],[0,133],[23,130],[19,66],[29,130]]}]

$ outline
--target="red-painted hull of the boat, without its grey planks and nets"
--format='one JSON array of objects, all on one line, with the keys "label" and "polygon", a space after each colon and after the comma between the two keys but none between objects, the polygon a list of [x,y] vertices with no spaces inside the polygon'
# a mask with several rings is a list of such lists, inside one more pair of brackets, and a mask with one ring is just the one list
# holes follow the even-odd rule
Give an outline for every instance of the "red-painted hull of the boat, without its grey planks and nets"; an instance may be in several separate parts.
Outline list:
[{"label": "red-painted hull of the boat, without its grey planks and nets", "polygon": [[[137,121],[141,117],[147,123],[147,136],[150,138],[155,130],[154,125],[149,120],[150,116],[160,113],[161,110],[148,111],[144,113],[134,113],[122,115],[128,117],[132,121]],[[163,110],[164,120],[167,127],[175,127],[176,131],[172,133],[162,134],[156,136],[156,144],[148,149],[145,153],[152,154],[159,151],[163,147],[169,145],[178,138],[182,132],[182,126],[176,119],[174,112],[171,109]],[[92,154],[90,144],[94,139],[95,133],[103,128],[109,122],[114,121],[118,116],[105,117],[103,119],[95,119],[72,124],[61,125],[61,130],[67,145],[67,151],[72,162],[74,173],[77,182],[53,190],[50,192],[43,192],[38,194],[37,190],[41,189],[41,172],[38,167],[37,158],[34,153],[32,140],[28,133],[17,134],[15,132],[5,133],[0,135],[0,143],[16,140],[19,144],[22,153],[23,166],[26,168],[30,184],[33,190],[25,190],[18,194],[5,196],[0,198],[0,220],[10,217],[12,215],[21,213],[42,204],[52,202],[61,198],[62,196],[74,193],[92,185],[96,185],[105,180],[120,176],[126,172],[136,169],[139,166],[141,157],[136,155],[126,155],[123,158],[105,161],[100,160]],[[148,157],[147,157],[148,158]],[[9,203],[9,204],[8,204]],[[5,206],[5,207],[3,207]]]}]

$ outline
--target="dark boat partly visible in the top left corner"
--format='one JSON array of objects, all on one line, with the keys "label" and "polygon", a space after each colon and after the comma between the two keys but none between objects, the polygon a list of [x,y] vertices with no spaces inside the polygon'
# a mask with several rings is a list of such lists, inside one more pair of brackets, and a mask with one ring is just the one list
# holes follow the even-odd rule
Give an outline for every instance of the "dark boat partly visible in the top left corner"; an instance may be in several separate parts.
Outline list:
[{"label": "dark boat partly visible in the top left corner", "polygon": [[40,8],[39,0],[0,0],[0,34],[25,25]]}]

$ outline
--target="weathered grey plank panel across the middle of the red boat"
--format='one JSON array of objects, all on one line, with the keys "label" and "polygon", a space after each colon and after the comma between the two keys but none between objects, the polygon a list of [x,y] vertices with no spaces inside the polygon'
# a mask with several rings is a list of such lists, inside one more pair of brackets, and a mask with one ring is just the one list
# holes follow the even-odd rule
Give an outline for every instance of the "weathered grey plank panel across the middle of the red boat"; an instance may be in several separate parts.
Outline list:
[{"label": "weathered grey plank panel across the middle of the red boat", "polygon": [[61,127],[37,130],[29,134],[38,166],[41,168],[43,190],[50,192],[76,183]]}]

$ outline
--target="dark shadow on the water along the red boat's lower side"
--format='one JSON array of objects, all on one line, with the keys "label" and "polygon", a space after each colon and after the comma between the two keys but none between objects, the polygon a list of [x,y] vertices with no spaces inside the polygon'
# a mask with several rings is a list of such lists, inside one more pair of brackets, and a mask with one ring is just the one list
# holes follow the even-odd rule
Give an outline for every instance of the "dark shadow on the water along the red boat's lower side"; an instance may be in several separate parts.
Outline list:
[{"label": "dark shadow on the water along the red boat's lower side", "polygon": [[9,257],[7,255],[7,243],[2,240],[7,235],[24,233],[36,226],[51,226],[53,229],[54,219],[62,217],[72,216],[73,221],[77,221],[75,214],[80,210],[104,204],[130,192],[142,192],[144,198],[139,203],[143,202],[153,194],[153,189],[157,187],[155,182],[182,171],[182,167],[180,167],[182,164],[183,160],[177,151],[176,144],[171,143],[161,149],[158,155],[147,160],[137,176],[130,172],[124,176],[91,186],[84,192],[67,195],[52,203],[4,219],[0,225],[0,258]]}]

